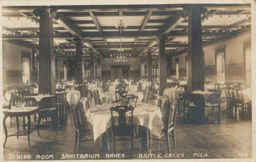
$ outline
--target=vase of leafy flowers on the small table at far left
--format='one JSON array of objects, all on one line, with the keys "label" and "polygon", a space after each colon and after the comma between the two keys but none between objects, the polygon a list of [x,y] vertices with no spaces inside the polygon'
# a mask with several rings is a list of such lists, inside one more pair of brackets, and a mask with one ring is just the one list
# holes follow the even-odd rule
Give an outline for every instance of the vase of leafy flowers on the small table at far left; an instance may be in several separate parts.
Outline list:
[{"label": "vase of leafy flowers on the small table at far left", "polygon": [[24,98],[26,95],[30,95],[32,91],[36,88],[36,83],[32,82],[31,85],[29,85],[29,80],[24,82],[19,82],[18,85],[15,87],[18,94],[21,97],[21,109],[25,107]]}]

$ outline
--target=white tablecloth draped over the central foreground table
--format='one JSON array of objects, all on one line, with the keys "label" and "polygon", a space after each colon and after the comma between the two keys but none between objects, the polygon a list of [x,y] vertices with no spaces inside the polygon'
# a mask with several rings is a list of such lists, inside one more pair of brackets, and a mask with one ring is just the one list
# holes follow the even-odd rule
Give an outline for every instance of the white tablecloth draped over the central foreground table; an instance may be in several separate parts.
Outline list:
[{"label": "white tablecloth draped over the central foreground table", "polygon": [[[106,106],[109,110],[109,108],[112,107],[113,104],[107,104]],[[139,106],[137,108],[134,108],[133,124],[147,127],[153,135],[159,136],[161,135],[162,129],[164,127],[164,124],[161,120],[161,118],[163,117],[162,113],[160,111],[160,108],[155,105],[151,105],[148,107],[148,111],[143,110],[142,107]],[[110,111],[96,111],[99,108],[103,109],[103,105],[91,107],[86,112],[87,121],[93,125],[94,140],[102,135],[109,127],[111,127]],[[127,114],[129,113],[127,112]],[[118,113],[113,112],[113,116],[115,117],[114,123],[118,123]],[[131,120],[131,116],[127,115],[125,117],[127,123],[129,123]]]}]

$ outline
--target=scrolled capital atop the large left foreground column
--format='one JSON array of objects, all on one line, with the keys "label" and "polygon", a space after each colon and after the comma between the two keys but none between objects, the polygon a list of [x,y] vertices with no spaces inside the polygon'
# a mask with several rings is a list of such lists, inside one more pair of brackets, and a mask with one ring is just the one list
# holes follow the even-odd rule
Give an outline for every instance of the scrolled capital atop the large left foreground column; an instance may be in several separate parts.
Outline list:
[{"label": "scrolled capital atop the large left foreground column", "polygon": [[37,7],[34,11],[33,11],[33,16],[38,17],[38,16],[48,16],[51,17],[53,20],[58,20],[59,19],[59,15],[56,12],[57,10],[53,10],[50,7]]}]

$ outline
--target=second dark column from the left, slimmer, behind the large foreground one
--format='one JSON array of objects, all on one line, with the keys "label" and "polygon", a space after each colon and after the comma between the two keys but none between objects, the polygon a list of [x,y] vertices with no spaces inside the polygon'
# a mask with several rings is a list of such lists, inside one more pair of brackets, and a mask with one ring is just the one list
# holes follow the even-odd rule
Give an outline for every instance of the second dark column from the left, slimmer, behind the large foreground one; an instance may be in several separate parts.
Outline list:
[{"label": "second dark column from the left, slimmer, behind the large foreground one", "polygon": [[84,84],[83,42],[81,38],[74,38],[73,41],[76,42],[76,84]]}]

